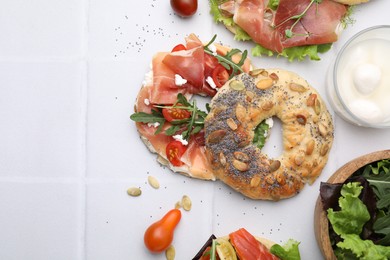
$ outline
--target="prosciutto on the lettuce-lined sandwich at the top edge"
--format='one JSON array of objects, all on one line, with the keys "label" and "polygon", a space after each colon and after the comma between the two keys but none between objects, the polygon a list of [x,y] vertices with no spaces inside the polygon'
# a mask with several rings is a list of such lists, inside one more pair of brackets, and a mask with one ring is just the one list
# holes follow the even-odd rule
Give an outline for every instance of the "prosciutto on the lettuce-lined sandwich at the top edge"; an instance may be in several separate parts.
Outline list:
[{"label": "prosciutto on the lettuce-lined sandwich at the top edge", "polygon": [[[294,46],[335,42],[338,38],[338,26],[347,12],[347,7],[343,4],[322,0],[318,4],[311,4],[291,29],[296,22],[296,19],[291,17],[302,14],[311,1],[280,0],[276,11],[267,7],[268,2],[268,0],[235,1],[233,20],[251,36],[254,42],[278,53]],[[222,8],[226,7],[222,6]],[[292,37],[286,36],[286,30],[292,31]]]}]

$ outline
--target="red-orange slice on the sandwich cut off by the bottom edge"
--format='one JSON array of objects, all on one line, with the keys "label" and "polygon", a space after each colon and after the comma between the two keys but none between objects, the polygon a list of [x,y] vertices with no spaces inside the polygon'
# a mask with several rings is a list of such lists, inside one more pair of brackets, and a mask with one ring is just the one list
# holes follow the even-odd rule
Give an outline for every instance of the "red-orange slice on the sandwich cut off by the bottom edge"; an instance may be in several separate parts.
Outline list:
[{"label": "red-orange slice on the sandwich cut off by the bottom edge", "polygon": [[271,254],[268,248],[261,244],[246,229],[239,230],[229,234],[230,242],[233,244],[240,260],[277,260],[277,256]]}]

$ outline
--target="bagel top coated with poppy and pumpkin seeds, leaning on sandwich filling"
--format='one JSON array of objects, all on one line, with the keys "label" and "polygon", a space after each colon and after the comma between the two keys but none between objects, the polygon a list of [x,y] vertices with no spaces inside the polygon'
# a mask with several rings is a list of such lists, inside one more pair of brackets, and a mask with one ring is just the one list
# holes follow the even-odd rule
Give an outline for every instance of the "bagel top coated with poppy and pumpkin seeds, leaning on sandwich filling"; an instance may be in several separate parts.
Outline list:
[{"label": "bagel top coated with poppy and pumpkin seeds, leaning on sandwich filling", "polygon": [[[283,130],[278,158],[252,144],[256,126],[273,116]],[[235,76],[212,99],[205,119],[207,156],[216,178],[252,199],[289,198],[313,183],[328,160],[333,133],[318,92],[282,69]]]}]

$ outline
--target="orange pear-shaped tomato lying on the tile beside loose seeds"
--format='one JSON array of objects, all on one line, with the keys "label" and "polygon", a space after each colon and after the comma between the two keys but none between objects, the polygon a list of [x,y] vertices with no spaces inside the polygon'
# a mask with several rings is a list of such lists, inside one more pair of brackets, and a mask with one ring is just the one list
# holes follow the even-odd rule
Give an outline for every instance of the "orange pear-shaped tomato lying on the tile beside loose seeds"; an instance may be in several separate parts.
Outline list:
[{"label": "orange pear-shaped tomato lying on the tile beside loose seeds", "polygon": [[146,248],[151,252],[162,252],[167,249],[173,240],[173,233],[181,219],[181,211],[172,209],[162,219],[150,225],[144,235]]}]

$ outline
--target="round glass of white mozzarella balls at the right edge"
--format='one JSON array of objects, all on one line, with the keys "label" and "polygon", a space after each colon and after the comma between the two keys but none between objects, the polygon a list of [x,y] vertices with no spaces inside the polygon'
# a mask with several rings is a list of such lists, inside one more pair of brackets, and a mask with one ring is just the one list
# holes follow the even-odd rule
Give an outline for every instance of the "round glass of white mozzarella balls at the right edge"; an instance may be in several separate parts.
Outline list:
[{"label": "round glass of white mozzarella balls at the right edge", "polygon": [[390,126],[390,39],[350,42],[336,60],[329,86],[336,112],[364,126]]}]

